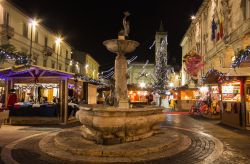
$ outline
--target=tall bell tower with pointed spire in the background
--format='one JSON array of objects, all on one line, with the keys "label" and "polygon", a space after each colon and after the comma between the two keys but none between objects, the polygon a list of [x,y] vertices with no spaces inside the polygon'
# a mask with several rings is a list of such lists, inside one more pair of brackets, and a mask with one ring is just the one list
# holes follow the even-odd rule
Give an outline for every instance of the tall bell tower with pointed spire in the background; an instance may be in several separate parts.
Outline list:
[{"label": "tall bell tower with pointed spire in the background", "polygon": [[[162,45],[162,46],[161,46]],[[163,23],[161,21],[159,30],[155,34],[155,64],[158,63],[160,52],[163,53],[167,59],[167,45],[168,45],[168,34],[164,30]],[[167,63],[165,63],[167,65]]]}]

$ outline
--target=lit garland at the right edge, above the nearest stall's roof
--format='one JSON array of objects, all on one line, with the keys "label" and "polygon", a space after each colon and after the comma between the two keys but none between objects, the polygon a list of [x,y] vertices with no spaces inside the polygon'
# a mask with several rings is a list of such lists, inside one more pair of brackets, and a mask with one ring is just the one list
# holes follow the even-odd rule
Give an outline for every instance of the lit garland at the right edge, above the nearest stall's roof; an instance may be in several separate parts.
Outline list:
[{"label": "lit garland at the right edge, above the nearest stall's roof", "polygon": [[242,62],[248,61],[250,55],[250,46],[247,46],[245,50],[240,50],[235,56],[235,60],[232,63],[232,68],[239,67]]}]

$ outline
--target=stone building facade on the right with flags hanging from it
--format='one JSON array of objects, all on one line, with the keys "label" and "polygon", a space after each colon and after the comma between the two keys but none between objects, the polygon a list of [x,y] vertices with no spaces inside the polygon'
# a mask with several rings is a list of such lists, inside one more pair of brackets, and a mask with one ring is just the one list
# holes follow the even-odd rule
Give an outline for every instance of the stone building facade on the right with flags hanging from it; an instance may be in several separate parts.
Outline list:
[{"label": "stone building facade on the right with flags hanging from it", "polygon": [[[182,57],[192,50],[202,55],[205,65],[198,79],[210,69],[233,74],[235,55],[249,45],[250,0],[204,0],[181,42]],[[236,71],[250,76],[248,67]],[[189,83],[184,63],[181,74],[182,85]]]}]

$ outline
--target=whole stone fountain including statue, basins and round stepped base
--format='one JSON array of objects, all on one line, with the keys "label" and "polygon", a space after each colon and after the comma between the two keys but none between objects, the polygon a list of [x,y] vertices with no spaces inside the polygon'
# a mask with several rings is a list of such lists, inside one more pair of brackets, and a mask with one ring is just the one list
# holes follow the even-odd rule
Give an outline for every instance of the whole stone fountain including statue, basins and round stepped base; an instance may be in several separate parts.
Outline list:
[{"label": "whole stone fountain including statue, basins and round stepped base", "polygon": [[[127,40],[129,16],[125,12],[124,29],[117,39],[103,44],[115,53],[115,97],[118,106],[81,106],[76,118],[82,126],[63,130],[44,137],[40,149],[60,160],[76,163],[131,163],[155,160],[177,154],[191,140],[173,130],[160,129],[165,120],[161,108],[129,108],[127,93],[127,60],[139,43]],[[172,149],[174,148],[175,149]]]}]

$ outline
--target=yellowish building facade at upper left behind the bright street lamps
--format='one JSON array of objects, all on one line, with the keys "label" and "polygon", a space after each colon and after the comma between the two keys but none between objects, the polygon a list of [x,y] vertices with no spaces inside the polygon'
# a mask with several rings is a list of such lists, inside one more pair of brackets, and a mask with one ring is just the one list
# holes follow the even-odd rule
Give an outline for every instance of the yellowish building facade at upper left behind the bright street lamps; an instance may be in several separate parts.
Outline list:
[{"label": "yellowish building facade at upper left behind the bright street lamps", "polygon": [[[36,25],[31,21],[9,1],[0,1],[0,46],[14,46],[18,52],[31,58],[31,64],[69,72],[72,47],[58,39],[39,20]],[[13,60],[6,59],[0,68],[14,64]]]}]

